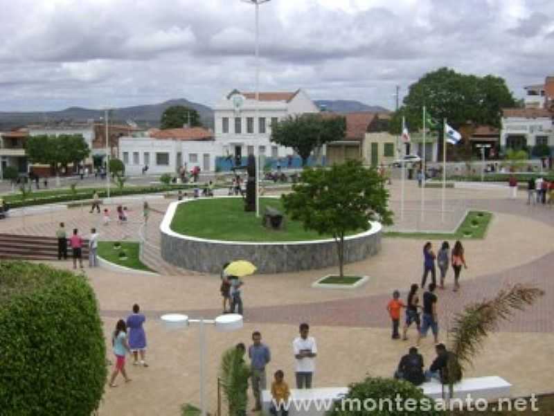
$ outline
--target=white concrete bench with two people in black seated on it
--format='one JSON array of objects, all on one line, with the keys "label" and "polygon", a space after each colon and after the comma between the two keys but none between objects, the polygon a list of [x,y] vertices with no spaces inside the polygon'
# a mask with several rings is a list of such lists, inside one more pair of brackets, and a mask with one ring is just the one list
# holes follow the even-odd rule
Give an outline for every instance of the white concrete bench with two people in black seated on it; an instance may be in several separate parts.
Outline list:
[{"label": "white concrete bench with two people in black seated on it", "polygon": [[[427,381],[421,386],[425,395],[440,399],[443,397],[443,386],[438,380]],[[454,397],[465,399],[467,395],[471,395],[473,400],[476,399],[499,399],[500,397],[510,397],[510,388],[512,385],[501,377],[475,377],[472,379],[462,379],[459,383],[454,384]],[[445,395],[448,394],[448,386],[445,386]]]}]

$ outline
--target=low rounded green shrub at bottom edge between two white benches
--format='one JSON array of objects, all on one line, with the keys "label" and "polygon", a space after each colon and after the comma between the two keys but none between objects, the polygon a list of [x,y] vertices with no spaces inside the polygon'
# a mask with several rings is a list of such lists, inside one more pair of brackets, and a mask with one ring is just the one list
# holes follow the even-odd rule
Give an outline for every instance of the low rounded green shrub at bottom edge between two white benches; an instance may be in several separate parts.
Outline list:
[{"label": "low rounded green shrub at bottom edge between two white benches", "polygon": [[[402,400],[399,402],[401,408],[395,406],[395,400],[400,397]],[[367,377],[364,381],[359,383],[352,383],[349,386],[348,394],[344,397],[346,401],[343,401],[345,406],[334,406],[334,409],[327,413],[328,416],[366,416],[370,414],[383,415],[383,416],[438,416],[446,415],[443,410],[435,410],[433,407],[434,400],[426,397],[421,390],[413,386],[413,384],[407,381],[400,381],[395,379],[381,379]],[[350,401],[348,401],[350,399]],[[391,406],[388,405],[388,400],[383,401],[383,410],[378,412],[379,399],[388,399],[391,401]],[[414,404],[413,411],[406,412],[404,404],[406,400],[411,399],[410,402]],[[364,409],[364,401],[366,403],[366,409]],[[357,403],[360,404],[360,409],[357,408]],[[374,410],[370,411],[370,407],[377,406]],[[350,407],[352,404],[352,408]],[[344,407],[344,408],[341,408]],[[390,411],[389,411],[390,410]],[[411,410],[411,409],[409,409]]]}]

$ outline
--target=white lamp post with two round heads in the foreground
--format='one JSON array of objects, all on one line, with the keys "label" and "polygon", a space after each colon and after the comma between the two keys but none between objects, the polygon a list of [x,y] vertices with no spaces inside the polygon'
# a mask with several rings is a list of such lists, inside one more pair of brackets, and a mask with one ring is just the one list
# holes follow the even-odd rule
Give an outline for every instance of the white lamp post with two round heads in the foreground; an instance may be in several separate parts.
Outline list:
[{"label": "white lamp post with two round heads in the foreground", "polygon": [[242,328],[242,315],[225,314],[217,316],[215,319],[189,319],[183,314],[166,314],[161,316],[161,320],[169,329],[184,329],[190,323],[197,323],[199,328],[199,349],[200,349],[200,410],[201,416],[206,416],[206,325],[215,325],[215,329],[222,332],[234,331]]}]

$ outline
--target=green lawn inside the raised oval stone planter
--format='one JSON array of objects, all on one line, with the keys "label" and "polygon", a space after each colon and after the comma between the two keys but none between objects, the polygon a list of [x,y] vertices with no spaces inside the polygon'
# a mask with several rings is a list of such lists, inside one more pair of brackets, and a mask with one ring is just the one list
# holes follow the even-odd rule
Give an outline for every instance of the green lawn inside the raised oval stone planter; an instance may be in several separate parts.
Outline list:
[{"label": "green lawn inside the raised oval stone planter", "polygon": [[283,230],[262,226],[265,206],[284,212],[280,199],[260,198],[260,218],[255,212],[244,212],[242,198],[198,199],[179,205],[171,223],[176,233],[207,239],[241,242],[290,242],[331,238],[304,230],[298,221],[285,219]]}]

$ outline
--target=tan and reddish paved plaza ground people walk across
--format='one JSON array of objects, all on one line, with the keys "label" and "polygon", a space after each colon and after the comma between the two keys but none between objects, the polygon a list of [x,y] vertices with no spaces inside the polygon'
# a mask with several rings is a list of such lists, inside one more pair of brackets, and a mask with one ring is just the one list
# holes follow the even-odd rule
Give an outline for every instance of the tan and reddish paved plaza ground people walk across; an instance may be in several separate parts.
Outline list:
[{"label": "tan and reddish paved plaza ground people walk across", "polygon": [[[429,206],[438,206],[440,189],[425,190]],[[447,189],[447,207],[488,210],[494,213],[488,234],[483,240],[464,242],[468,269],[462,271],[461,291],[452,291],[452,269],[447,289],[438,294],[441,318],[441,341],[447,341],[449,318],[467,302],[493,296],[506,284],[536,284],[546,295],[523,313],[503,323],[499,332],[485,342],[468,377],[498,375],[513,384],[513,395],[551,392],[551,351],[554,343],[554,208],[527,206],[526,193],[508,199],[507,189]],[[415,209],[420,189],[406,182],[406,205]],[[400,183],[391,186],[391,206],[397,209]],[[156,199],[150,205],[163,212],[170,200]],[[78,227],[87,235],[91,226],[100,230],[101,239],[139,239],[141,199],[127,204],[129,224],[101,226],[100,215],[88,207],[71,208],[41,215],[11,217],[0,221],[0,233],[53,235],[57,223]],[[454,210],[454,208],[452,208]],[[458,209],[458,208],[456,208]],[[113,209],[111,209],[113,212]],[[420,215],[420,212],[418,212]],[[426,215],[440,222],[440,212]],[[120,381],[118,388],[107,387],[100,415],[179,415],[179,406],[199,401],[198,329],[167,332],[159,316],[168,311],[191,317],[213,318],[221,313],[218,275],[188,273],[164,264],[159,258],[159,222],[162,215],[153,213],[146,232],[147,262],[159,269],[158,276],[121,274],[105,269],[85,269],[100,303],[105,323],[106,345],[111,358],[111,331],[118,318],[130,313],[137,302],[147,316],[150,368],[128,365],[131,383]],[[426,221],[429,221],[427,219]],[[272,361],[268,376],[282,369],[289,384],[294,384],[292,339],[298,323],[311,325],[318,343],[315,386],[346,386],[366,374],[390,377],[402,354],[415,341],[415,329],[408,342],[392,341],[386,301],[394,289],[406,290],[419,283],[422,272],[422,239],[384,238],[382,251],[362,262],[348,264],[346,274],[364,274],[370,280],[356,290],[313,289],[312,282],[336,269],[321,269],[283,275],[254,275],[244,278],[244,328],[238,332],[218,333],[208,328],[207,383],[210,413],[217,410],[216,379],[222,352],[238,342],[250,343],[255,329],[271,347]],[[434,242],[437,248],[439,242]],[[451,241],[451,246],[452,246]],[[70,267],[70,263],[52,262]],[[425,365],[434,359],[431,338],[422,341]],[[224,412],[226,413],[226,412]]]}]

